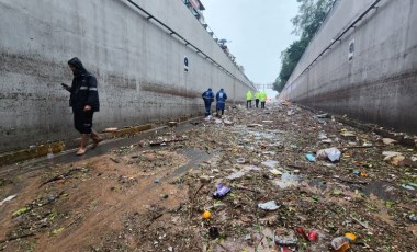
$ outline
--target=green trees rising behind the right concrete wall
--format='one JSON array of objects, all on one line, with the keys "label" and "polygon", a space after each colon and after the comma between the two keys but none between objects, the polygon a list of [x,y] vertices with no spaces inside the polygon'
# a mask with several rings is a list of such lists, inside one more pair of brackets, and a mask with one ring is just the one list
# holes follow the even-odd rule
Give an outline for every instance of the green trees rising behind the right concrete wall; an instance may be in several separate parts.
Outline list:
[{"label": "green trees rising behind the right concrete wall", "polygon": [[327,12],[336,0],[296,0],[300,4],[298,14],[291,19],[294,25],[293,33],[301,35],[281,53],[281,71],[273,82],[273,89],[281,92],[291,73],[303,56],[305,48],[314,37],[314,34],[325,20]]}]

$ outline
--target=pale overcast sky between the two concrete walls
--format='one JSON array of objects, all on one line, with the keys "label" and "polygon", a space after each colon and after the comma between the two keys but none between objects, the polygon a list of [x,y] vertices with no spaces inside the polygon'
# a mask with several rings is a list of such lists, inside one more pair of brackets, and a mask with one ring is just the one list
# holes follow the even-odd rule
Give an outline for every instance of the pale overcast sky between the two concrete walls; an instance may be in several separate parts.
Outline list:
[{"label": "pale overcast sky between the two concrete walls", "polygon": [[255,83],[271,83],[281,69],[281,51],[297,37],[291,19],[296,0],[201,0],[205,22]]}]

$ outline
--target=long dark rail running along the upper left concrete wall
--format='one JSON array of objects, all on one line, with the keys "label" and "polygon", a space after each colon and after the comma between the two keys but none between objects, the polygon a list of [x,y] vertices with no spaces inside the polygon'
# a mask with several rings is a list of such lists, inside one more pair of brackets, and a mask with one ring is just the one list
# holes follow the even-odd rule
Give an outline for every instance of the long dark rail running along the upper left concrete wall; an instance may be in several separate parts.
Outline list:
[{"label": "long dark rail running along the upper left concrete wall", "polygon": [[[143,9],[142,7],[139,7],[137,3],[135,3],[134,1],[132,0],[127,0],[129,3],[132,3],[135,8],[137,8],[139,11],[142,11],[145,15],[146,15],[146,19],[147,20],[154,20],[158,25],[160,25],[161,27],[166,28],[167,30],[167,33],[169,33],[169,35],[176,35],[177,38],[179,38],[179,41],[182,41],[184,43],[185,46],[189,46],[191,48],[193,48],[195,50],[195,53],[198,55],[201,55],[203,58],[205,58],[206,60],[210,60],[213,65],[215,65],[217,68],[222,69],[224,72],[226,72],[228,76],[233,77],[235,80],[237,80],[238,82],[245,84],[245,85],[248,85],[246,82],[241,81],[239,78],[237,78],[235,75],[233,75],[232,72],[229,72],[226,68],[224,68],[222,65],[219,65],[216,60],[214,60],[212,57],[210,57],[207,54],[205,54],[204,51],[202,51],[199,47],[196,47],[195,45],[193,45],[192,43],[190,43],[189,41],[187,41],[183,36],[181,36],[180,34],[178,34],[176,31],[173,31],[171,27],[169,27],[167,24],[165,24],[164,22],[161,22],[160,20],[158,20],[157,18],[155,18],[153,14],[150,14],[149,12],[147,12],[145,9]],[[243,73],[244,75],[244,73]],[[246,75],[244,75],[245,78],[247,78]],[[251,88],[255,89],[255,85],[253,83],[247,78],[247,81],[249,83],[251,83]]]}]

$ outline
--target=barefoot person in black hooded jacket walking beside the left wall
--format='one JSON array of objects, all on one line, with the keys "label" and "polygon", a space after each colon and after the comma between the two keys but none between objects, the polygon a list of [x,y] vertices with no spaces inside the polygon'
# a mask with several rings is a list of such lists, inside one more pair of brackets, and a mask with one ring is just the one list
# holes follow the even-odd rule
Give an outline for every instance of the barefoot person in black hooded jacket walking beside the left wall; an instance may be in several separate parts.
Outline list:
[{"label": "barefoot person in black hooded jacket walking beside the left wall", "polygon": [[81,134],[77,154],[81,156],[87,151],[90,136],[93,140],[92,148],[103,140],[98,133],[91,129],[93,114],[100,111],[99,93],[95,77],[86,70],[79,58],[71,58],[68,66],[74,73],[72,84],[69,87],[63,83],[63,88],[71,93],[69,105],[72,107],[74,126]]}]

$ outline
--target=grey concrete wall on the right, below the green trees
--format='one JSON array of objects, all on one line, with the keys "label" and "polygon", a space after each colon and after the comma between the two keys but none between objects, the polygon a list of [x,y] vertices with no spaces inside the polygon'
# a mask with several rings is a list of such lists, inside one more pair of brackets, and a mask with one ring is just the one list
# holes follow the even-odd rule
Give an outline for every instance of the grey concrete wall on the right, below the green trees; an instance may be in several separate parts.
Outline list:
[{"label": "grey concrete wall on the right, below the green trees", "polygon": [[[417,2],[382,0],[305,69],[374,0],[340,0],[280,99],[417,133]],[[354,41],[349,61],[349,44]]]}]

